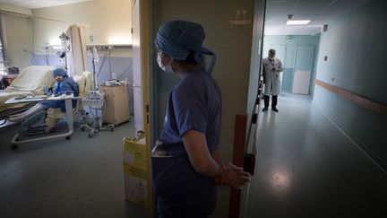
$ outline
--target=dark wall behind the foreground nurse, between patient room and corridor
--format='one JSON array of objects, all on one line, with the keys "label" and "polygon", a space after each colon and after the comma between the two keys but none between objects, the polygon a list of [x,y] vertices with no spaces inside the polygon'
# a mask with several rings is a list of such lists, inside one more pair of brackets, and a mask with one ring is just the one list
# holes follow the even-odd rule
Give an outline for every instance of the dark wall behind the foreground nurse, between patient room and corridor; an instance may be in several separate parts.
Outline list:
[{"label": "dark wall behind the foreground nurse, between patient room and corridor", "polygon": [[[262,1],[259,1],[262,2]],[[254,17],[254,0],[241,1],[154,1],[154,32],[162,22],[188,20],[202,24],[206,32],[203,46],[217,55],[212,76],[222,92],[222,131],[220,136],[221,153],[224,161],[231,161],[237,114],[245,115],[250,76],[253,22],[247,25],[231,25],[237,10],[247,10],[247,19]],[[153,41],[153,40],[152,40]],[[156,64],[155,108],[158,131],[162,129],[169,92],[179,81],[175,74],[162,72]],[[256,93],[255,93],[256,95]],[[218,205],[212,217],[228,217],[229,188],[219,187]]]}]

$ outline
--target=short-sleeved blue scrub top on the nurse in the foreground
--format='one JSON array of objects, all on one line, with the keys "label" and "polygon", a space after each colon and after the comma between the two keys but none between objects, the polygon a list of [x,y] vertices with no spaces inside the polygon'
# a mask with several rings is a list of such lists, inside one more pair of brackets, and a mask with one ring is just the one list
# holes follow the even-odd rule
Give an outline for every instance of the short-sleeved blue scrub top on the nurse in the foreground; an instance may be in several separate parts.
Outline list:
[{"label": "short-sleeved blue scrub top on the nurse in the foreground", "polygon": [[163,146],[182,144],[182,136],[194,129],[206,136],[209,151],[219,144],[221,94],[210,74],[192,72],[177,83],[169,95],[164,128],[159,137]]}]

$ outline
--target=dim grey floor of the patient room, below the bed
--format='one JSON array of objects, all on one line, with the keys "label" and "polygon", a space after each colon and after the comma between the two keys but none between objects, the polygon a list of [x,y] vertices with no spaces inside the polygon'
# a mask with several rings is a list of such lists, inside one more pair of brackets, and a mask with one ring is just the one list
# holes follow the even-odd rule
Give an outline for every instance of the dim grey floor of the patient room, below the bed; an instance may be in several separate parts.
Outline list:
[{"label": "dim grey floor of the patient room, below the bed", "polygon": [[124,196],[122,139],[135,135],[133,121],[93,138],[75,123],[69,141],[11,151],[18,129],[0,128],[1,218],[147,217]]}]

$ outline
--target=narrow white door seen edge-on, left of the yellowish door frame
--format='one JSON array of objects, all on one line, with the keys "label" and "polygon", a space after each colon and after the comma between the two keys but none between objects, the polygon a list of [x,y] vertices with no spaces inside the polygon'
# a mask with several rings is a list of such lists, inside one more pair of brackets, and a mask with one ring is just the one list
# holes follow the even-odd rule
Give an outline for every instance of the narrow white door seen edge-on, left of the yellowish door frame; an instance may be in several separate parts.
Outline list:
[{"label": "narrow white door seen edge-on, left of the yellowish door frame", "polygon": [[134,109],[134,128],[136,131],[144,130],[143,124],[143,105],[142,105],[142,53],[141,30],[140,30],[140,4],[139,1],[133,2],[132,13],[132,43],[133,43],[133,109]]}]

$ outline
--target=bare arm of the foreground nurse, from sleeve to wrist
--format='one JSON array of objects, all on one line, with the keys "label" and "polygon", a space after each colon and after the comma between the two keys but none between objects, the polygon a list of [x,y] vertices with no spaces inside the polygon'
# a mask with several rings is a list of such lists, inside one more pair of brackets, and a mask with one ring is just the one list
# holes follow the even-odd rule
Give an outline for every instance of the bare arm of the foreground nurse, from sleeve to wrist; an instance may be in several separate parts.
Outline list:
[{"label": "bare arm of the foreground nurse, from sleeve to wrist", "polygon": [[183,135],[183,143],[194,170],[210,177],[219,173],[219,164],[212,158],[204,134],[193,129],[188,130]]}]

